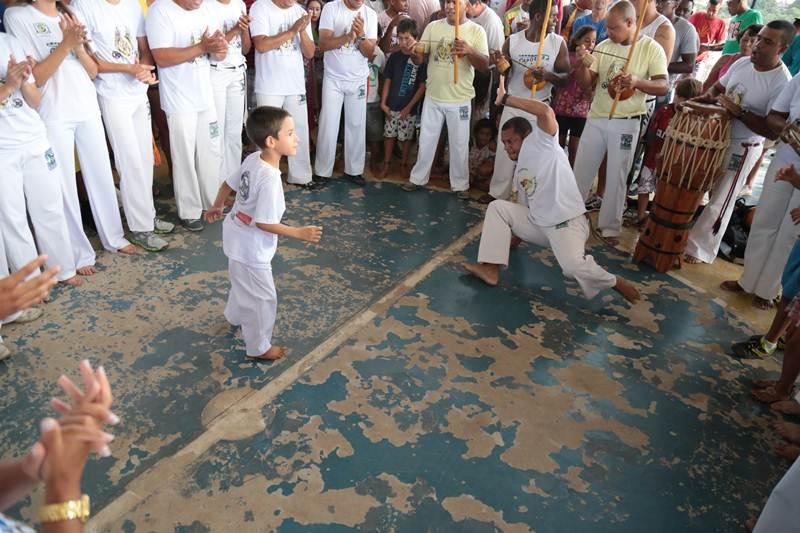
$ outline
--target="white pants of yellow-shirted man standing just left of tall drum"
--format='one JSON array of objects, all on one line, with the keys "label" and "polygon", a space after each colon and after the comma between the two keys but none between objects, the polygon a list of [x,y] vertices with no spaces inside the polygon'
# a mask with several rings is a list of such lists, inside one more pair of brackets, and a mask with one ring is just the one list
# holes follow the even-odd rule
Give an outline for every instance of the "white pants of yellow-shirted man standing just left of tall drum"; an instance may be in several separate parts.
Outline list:
[{"label": "white pants of yellow-shirted man standing just left of tall drum", "polygon": [[622,231],[628,172],[633,164],[640,125],[641,117],[590,118],[581,135],[575,156],[575,179],[584,200],[592,190],[603,157],[608,155],[606,191],[597,219],[597,227],[605,237],[617,237]]}]

